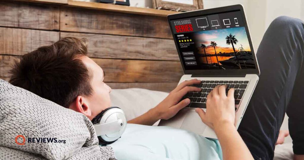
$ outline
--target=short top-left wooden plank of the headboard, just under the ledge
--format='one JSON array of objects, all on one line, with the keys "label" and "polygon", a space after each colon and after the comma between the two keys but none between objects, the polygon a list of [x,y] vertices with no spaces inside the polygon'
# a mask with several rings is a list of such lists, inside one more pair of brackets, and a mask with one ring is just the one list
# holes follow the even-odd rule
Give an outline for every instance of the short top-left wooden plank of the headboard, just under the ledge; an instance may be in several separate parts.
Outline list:
[{"label": "short top-left wooden plank of the headboard, just under the ledge", "polygon": [[0,1],[0,26],[59,30],[58,5]]}]

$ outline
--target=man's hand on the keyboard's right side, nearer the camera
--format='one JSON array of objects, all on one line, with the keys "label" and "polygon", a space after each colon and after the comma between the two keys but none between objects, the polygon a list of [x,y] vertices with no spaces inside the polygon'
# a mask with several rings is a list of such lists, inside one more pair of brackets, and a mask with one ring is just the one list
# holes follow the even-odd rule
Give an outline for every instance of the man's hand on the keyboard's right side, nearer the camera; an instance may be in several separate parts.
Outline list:
[{"label": "man's hand on the keyboard's right side, nearer the camera", "polygon": [[206,113],[201,108],[195,109],[202,121],[213,130],[223,123],[234,125],[234,89],[231,88],[226,96],[226,87],[226,85],[218,85],[208,94]]}]

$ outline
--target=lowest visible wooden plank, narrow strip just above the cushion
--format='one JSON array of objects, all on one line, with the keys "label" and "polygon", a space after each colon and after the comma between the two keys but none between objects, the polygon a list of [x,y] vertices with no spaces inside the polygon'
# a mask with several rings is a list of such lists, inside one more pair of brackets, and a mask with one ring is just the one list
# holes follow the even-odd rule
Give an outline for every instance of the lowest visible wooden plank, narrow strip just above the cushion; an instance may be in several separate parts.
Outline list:
[{"label": "lowest visible wooden plank, narrow strip just above the cushion", "polygon": [[159,83],[106,83],[112,89],[126,89],[126,88],[144,88],[155,91],[171,92],[178,84],[178,82],[159,82]]}]

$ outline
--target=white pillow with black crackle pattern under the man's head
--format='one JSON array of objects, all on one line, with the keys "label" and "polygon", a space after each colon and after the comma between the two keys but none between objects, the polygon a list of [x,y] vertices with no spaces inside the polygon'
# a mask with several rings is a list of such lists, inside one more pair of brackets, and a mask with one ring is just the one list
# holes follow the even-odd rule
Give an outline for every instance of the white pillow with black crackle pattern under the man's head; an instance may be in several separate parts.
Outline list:
[{"label": "white pillow with black crackle pattern under the man's head", "polygon": [[47,159],[116,159],[111,147],[98,146],[86,116],[1,79],[0,146]]}]

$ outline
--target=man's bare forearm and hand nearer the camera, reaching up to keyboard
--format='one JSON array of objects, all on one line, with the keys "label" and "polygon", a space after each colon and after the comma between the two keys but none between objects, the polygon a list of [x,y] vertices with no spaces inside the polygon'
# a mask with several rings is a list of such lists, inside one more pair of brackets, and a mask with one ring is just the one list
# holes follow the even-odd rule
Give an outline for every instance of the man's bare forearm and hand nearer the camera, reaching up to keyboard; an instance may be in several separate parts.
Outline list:
[{"label": "man's bare forearm and hand nearer the camera, reaching up to keyboard", "polygon": [[226,85],[216,86],[207,96],[206,112],[201,108],[195,111],[202,121],[212,128],[219,140],[224,160],[253,159],[249,149],[234,126],[234,89],[226,96]]}]

